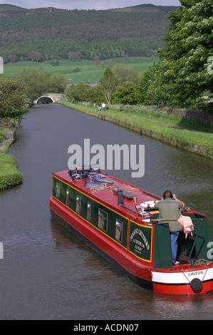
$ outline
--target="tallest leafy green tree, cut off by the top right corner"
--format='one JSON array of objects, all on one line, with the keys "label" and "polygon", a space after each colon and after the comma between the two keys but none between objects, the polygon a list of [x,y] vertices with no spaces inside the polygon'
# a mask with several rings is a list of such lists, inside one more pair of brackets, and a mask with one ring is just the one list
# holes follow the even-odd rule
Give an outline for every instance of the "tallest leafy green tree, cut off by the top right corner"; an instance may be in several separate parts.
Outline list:
[{"label": "tallest leafy green tree, cut off by the top right corner", "polygon": [[180,105],[190,105],[202,98],[205,90],[213,93],[213,78],[207,71],[213,50],[213,4],[212,0],[180,2],[185,8],[170,15],[171,33],[160,58],[174,80]]}]

